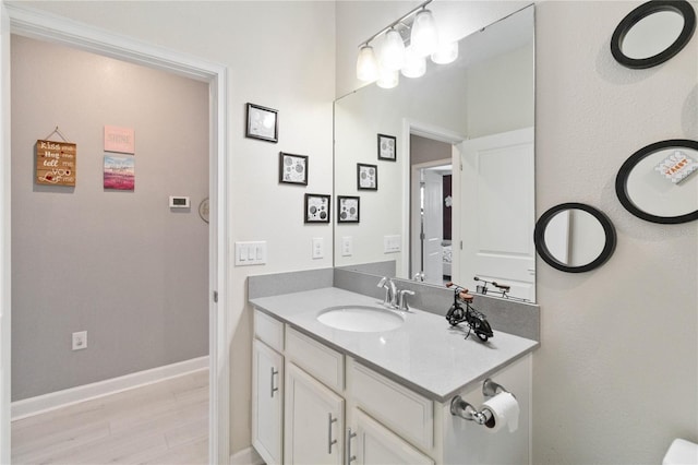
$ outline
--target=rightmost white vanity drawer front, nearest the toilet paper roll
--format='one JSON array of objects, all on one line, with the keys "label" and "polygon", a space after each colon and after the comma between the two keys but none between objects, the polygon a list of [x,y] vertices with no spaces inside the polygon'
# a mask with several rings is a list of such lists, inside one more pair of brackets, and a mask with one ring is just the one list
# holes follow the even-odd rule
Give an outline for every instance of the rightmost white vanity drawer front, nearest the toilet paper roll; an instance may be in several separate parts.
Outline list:
[{"label": "rightmost white vanity drawer front, nearest the toilet paper roll", "polygon": [[408,441],[426,450],[434,444],[434,404],[429,398],[357,362],[350,392],[357,405]]}]

